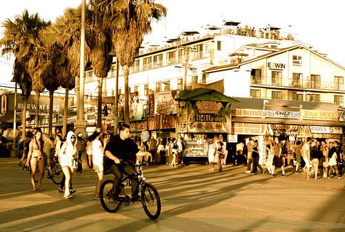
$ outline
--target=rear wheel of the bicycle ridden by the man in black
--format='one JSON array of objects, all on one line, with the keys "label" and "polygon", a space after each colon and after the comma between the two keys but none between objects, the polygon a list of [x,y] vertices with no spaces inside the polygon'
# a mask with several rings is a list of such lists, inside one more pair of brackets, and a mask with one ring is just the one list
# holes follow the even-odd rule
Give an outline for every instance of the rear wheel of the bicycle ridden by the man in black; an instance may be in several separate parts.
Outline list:
[{"label": "rear wheel of the bicycle ridden by the man in black", "polygon": [[105,180],[99,190],[99,198],[103,209],[109,213],[115,213],[121,209],[121,203],[110,199],[109,192],[112,189],[112,180]]}]

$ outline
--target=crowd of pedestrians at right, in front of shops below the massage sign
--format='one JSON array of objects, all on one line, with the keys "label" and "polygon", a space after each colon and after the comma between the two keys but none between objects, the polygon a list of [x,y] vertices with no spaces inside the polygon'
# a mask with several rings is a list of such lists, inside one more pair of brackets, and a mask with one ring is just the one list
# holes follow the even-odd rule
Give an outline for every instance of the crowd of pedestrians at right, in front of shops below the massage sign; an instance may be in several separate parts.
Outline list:
[{"label": "crowd of pedestrians at right, in front of shops below the massage sign", "polygon": [[[274,140],[266,141],[264,144],[264,163],[266,170],[259,165],[259,143],[253,138],[249,139],[246,145],[247,170],[246,173],[256,174],[259,167],[262,174],[265,171],[268,175],[274,177],[277,175],[276,169],[281,169],[281,177],[286,177],[286,167],[292,168],[293,173],[304,173],[304,178],[319,180],[323,178],[343,178],[344,168],[344,146],[339,145],[338,141],[326,143],[325,140],[317,140],[308,137],[302,140],[293,140],[288,143],[282,143],[278,137]],[[237,156],[244,155],[243,143],[237,144]],[[303,163],[303,165],[302,165]]]}]

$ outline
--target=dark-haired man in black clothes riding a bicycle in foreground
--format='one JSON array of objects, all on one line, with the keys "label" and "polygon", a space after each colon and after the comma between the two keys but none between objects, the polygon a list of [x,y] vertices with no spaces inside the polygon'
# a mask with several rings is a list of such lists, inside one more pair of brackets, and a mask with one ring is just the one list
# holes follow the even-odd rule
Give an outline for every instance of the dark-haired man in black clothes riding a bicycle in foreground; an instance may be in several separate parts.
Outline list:
[{"label": "dark-haired man in black clothes riding a bicycle in foreground", "polygon": [[[148,151],[140,151],[138,145],[129,138],[130,136],[130,126],[127,124],[122,124],[119,126],[119,134],[116,136],[111,136],[109,142],[104,149],[106,151],[106,164],[108,165],[110,172],[114,174],[114,182],[112,184],[112,191],[110,192],[110,198],[121,202],[119,197],[119,183],[126,175],[135,174],[136,171],[132,165],[135,165],[137,156],[151,156]],[[132,165],[126,163],[121,163],[121,161],[128,162]],[[132,179],[132,201],[139,201],[140,197],[137,190],[138,181]]]}]

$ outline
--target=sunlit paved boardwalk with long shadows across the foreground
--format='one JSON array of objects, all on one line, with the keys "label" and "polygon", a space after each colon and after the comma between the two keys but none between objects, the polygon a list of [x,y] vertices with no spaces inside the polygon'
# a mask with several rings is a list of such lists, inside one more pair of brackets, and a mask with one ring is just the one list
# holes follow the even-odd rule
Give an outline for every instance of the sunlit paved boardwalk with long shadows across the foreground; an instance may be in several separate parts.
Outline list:
[{"label": "sunlit paved boardwalk with long shadows across the foreground", "polygon": [[[208,171],[206,165],[146,167],[157,187],[161,216],[148,219],[141,203],[107,213],[93,200],[96,174],[75,173],[75,198],[63,199],[45,178],[32,191],[17,158],[0,158],[0,231],[345,231],[344,180],[251,176],[245,167]],[[106,178],[112,178],[106,176]]]}]

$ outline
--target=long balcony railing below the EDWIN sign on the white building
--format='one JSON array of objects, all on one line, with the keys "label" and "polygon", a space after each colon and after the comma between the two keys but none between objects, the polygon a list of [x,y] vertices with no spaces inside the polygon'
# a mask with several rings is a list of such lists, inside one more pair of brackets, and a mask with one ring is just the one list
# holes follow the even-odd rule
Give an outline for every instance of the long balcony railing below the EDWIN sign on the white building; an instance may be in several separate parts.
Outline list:
[{"label": "long balcony railing below the EDWIN sign on the white building", "polygon": [[270,77],[255,77],[250,78],[252,85],[272,85],[280,87],[295,87],[302,89],[329,89],[335,91],[345,90],[343,83],[334,83],[326,81],[295,81],[292,78],[270,78]]}]

